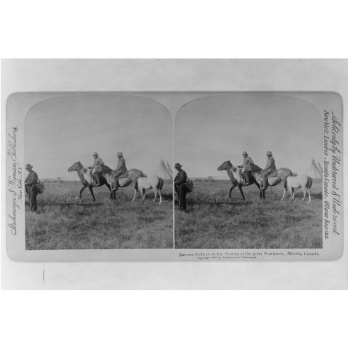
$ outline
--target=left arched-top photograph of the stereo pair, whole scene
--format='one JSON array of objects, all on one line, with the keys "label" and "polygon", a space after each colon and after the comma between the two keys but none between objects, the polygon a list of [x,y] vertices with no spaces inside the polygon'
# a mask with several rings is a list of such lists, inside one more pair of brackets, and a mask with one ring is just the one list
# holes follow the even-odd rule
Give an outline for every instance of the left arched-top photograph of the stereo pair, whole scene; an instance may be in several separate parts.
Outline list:
[{"label": "left arched-top photograph of the stereo pair, whole scene", "polygon": [[146,97],[49,97],[26,114],[27,250],[173,248],[173,125]]}]

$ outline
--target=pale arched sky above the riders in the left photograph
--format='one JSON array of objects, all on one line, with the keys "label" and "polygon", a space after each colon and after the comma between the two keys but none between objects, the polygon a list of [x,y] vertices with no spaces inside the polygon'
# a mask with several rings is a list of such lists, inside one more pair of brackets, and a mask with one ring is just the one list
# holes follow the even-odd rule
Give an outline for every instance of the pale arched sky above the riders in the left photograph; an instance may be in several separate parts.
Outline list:
[{"label": "pale arched sky above the riders in the left photograph", "polygon": [[41,178],[71,177],[76,161],[93,164],[93,152],[115,168],[123,152],[127,168],[153,175],[161,158],[173,161],[171,116],[161,104],[122,95],[71,95],[33,106],[25,119],[25,161]]}]

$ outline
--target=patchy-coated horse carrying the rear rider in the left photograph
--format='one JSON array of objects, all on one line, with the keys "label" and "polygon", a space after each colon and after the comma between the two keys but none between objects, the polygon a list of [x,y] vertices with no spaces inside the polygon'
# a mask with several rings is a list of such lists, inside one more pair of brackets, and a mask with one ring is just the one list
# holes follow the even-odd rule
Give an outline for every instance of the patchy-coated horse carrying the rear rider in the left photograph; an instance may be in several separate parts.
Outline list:
[{"label": "patchy-coated horse carrying the rear rider in the left photograph", "polygon": [[[109,183],[109,185],[111,186],[111,193],[110,193],[110,199],[116,200],[116,196],[115,193],[116,191],[113,191],[113,177],[115,175],[115,171],[113,171],[111,168],[109,168],[108,166],[104,166],[104,165],[100,165],[97,166],[93,169],[93,174],[95,173],[100,173],[100,175],[102,175],[102,177],[105,178],[106,182]],[[136,196],[136,182],[138,180],[138,178],[143,177],[143,172],[139,171],[139,169],[129,169],[129,171],[127,171],[127,173],[124,174],[124,177],[119,177],[118,178],[118,184],[120,185],[119,187],[127,187],[130,184],[133,184],[134,186],[134,196]],[[123,176],[123,175],[121,175]]]}]

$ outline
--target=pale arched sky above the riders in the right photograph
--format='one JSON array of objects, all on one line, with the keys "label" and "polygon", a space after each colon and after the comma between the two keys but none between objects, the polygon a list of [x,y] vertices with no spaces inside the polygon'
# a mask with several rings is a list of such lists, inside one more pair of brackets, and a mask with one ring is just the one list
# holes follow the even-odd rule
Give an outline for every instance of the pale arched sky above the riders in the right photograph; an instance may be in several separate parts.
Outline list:
[{"label": "pale arched sky above the riders in the right photograph", "polygon": [[[242,164],[247,151],[264,168],[268,150],[276,167],[308,173],[314,157],[322,164],[322,118],[312,104],[271,94],[203,97],[182,106],[175,117],[175,162],[189,177],[223,175],[230,159]],[[226,173],[226,172],[223,172]]]}]

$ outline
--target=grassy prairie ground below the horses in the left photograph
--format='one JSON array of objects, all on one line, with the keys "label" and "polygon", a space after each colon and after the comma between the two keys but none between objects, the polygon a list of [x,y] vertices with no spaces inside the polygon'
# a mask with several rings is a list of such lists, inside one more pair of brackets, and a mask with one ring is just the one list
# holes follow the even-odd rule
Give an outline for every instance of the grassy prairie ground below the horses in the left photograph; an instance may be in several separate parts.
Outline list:
[{"label": "grassy prairie ground below the horses in the left photograph", "polygon": [[81,182],[45,183],[38,195],[38,211],[30,212],[26,198],[26,249],[119,249],[173,248],[172,182],[165,180],[162,203],[152,204],[154,193],[146,191],[146,201],[137,196],[132,203],[132,186],[109,200],[106,186],[88,189],[79,201]]}]

